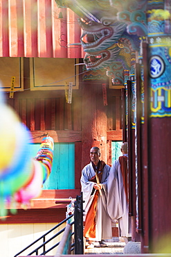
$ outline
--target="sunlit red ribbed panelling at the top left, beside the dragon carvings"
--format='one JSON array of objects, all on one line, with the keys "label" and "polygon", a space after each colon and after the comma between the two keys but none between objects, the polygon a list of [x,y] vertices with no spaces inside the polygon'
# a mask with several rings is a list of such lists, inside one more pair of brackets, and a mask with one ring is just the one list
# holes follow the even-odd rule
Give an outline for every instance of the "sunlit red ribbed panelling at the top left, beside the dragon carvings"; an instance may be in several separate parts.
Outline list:
[{"label": "sunlit red ribbed panelling at the top left, beside the dragon carvings", "polygon": [[77,18],[51,0],[1,0],[0,57],[83,58],[81,46],[69,46],[80,42]]}]

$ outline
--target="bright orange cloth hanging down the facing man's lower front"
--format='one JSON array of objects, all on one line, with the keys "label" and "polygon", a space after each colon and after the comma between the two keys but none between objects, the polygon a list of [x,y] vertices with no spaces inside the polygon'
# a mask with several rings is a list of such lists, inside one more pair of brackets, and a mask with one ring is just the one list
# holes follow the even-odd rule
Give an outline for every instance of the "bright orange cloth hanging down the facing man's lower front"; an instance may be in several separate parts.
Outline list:
[{"label": "bright orange cloth hanging down the facing man's lower front", "polygon": [[85,238],[96,238],[96,207],[98,202],[98,190],[96,191],[91,206],[88,210],[85,226],[84,226],[84,237]]}]

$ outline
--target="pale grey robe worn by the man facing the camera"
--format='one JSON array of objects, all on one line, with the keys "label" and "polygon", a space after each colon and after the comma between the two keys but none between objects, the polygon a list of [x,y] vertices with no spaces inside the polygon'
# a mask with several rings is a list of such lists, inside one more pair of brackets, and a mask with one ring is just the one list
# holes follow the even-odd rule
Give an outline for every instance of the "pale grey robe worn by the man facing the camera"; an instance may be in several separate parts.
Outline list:
[{"label": "pale grey robe worn by the man facing the camera", "polygon": [[[96,238],[92,238],[92,240],[100,241],[105,239],[112,238],[111,233],[111,219],[107,213],[107,176],[109,176],[110,167],[109,165],[105,165],[102,172],[102,196],[98,194],[98,202],[97,202],[97,211],[96,211]],[[81,176],[81,185],[83,192],[83,209],[85,210],[85,216],[87,215],[87,211],[91,205],[91,201],[93,200],[93,196],[96,192],[94,190],[93,195],[91,192],[93,190],[94,182],[89,181],[93,176],[95,176],[95,172],[93,169],[92,163],[89,163],[82,169]]]}]

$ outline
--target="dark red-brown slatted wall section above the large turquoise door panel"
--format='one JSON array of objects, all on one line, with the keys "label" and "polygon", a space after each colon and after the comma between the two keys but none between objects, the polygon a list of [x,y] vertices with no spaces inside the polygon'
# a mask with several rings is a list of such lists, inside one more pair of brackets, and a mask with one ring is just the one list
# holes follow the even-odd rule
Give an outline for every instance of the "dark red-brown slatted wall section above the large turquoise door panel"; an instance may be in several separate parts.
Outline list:
[{"label": "dark red-brown slatted wall section above the large turquoise door panel", "polygon": [[32,132],[81,131],[81,99],[81,97],[76,97],[73,99],[73,103],[66,103],[63,97],[56,99],[8,99],[8,104],[15,109],[21,122],[26,124]]}]

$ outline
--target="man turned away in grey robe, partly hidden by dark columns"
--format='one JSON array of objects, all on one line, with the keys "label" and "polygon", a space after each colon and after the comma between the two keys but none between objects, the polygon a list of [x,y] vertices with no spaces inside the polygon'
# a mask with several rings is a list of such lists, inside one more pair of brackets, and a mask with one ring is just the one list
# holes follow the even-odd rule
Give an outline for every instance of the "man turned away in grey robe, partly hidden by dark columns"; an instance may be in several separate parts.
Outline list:
[{"label": "man turned away in grey robe, partly hidden by dark columns", "polygon": [[118,220],[119,237],[127,242],[131,237],[128,199],[127,142],[121,145],[123,156],[115,160],[107,178],[107,211],[112,221]]}]

